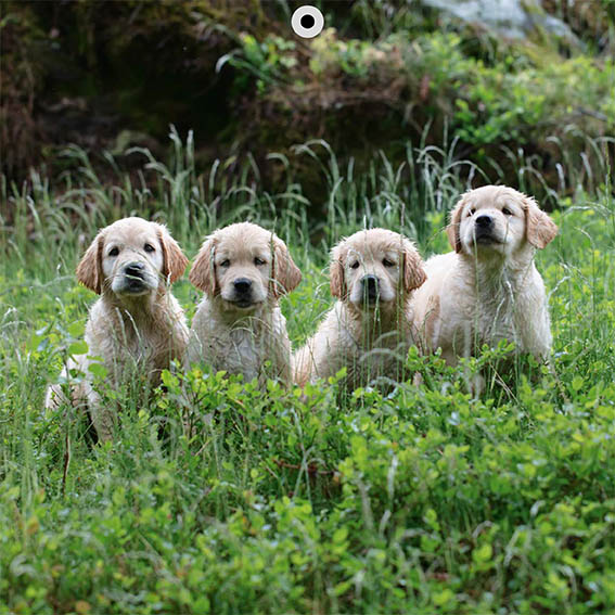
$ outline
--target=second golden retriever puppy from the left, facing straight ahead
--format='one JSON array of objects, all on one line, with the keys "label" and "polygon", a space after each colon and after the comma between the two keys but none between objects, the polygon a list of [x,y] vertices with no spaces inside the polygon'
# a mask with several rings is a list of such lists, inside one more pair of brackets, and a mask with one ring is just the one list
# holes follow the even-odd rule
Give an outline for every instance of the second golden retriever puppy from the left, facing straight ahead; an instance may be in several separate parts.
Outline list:
[{"label": "second golden retriever puppy from the left, facing straight ahead", "polygon": [[284,242],[251,222],[230,225],[205,240],[189,278],[205,295],[192,321],[188,363],[287,386],[291,345],[278,299],[302,273]]}]

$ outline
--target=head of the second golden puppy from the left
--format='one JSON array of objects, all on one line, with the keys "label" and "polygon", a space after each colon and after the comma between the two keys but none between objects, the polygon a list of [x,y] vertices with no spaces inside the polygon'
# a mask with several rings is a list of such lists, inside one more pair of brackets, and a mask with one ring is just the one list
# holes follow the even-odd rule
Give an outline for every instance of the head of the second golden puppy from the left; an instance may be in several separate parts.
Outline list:
[{"label": "head of the second golden puppy from the left", "polygon": [[196,255],[190,281],[226,310],[249,312],[291,292],[302,274],[284,242],[251,222],[214,232]]}]

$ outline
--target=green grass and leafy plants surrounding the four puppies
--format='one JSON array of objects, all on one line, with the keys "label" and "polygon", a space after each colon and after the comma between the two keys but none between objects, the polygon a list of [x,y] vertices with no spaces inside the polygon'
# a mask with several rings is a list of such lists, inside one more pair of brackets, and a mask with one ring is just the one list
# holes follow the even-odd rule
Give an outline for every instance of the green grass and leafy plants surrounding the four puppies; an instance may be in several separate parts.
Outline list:
[{"label": "green grass and leafy plants surrounding the four puppies", "polygon": [[[401,169],[374,156],[356,177],[315,142],[296,153],[321,165],[328,187],[312,204],[323,206],[321,221],[309,220],[292,177],[267,194],[254,164],[220,162],[198,176],[190,140],[174,140],[169,167],[145,158],[140,176],[117,170],[112,185],[78,150],[68,155],[81,168],[64,184],[33,176],[2,185],[12,217],[0,235],[0,612],[615,607],[607,181],[592,194],[551,193],[561,234],[537,260],[551,293],[553,373],[534,366],[529,382],[520,369],[472,400],[463,370],[411,354],[421,387],[357,390],[342,405],[334,383],[306,400],[274,384],[264,396],[232,379],[167,374],[167,390],[148,405],[120,392],[120,438],[91,447],[79,417],[46,412],[42,401],[94,300],[74,269],[98,227],[155,217],[190,257],[217,226],[247,217],[276,228],[304,271],[282,303],[296,345],[331,304],[325,265],[339,236],[380,225],[415,239],[425,256],[444,252],[445,213],[465,189],[447,148],[409,148]],[[421,179],[409,181],[408,169]],[[572,185],[574,170],[574,161],[563,170]],[[474,172],[498,180],[497,169]],[[197,292],[185,277],[174,292],[191,317]],[[197,436],[184,432],[187,419]]]}]

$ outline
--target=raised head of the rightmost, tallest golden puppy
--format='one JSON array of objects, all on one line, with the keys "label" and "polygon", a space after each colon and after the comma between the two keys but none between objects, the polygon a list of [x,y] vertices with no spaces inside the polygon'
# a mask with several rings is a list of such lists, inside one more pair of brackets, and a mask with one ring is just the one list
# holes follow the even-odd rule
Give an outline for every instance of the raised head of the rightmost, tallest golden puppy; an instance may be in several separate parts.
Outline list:
[{"label": "raised head of the rightmost, tallest golden puppy", "polygon": [[534,198],[505,185],[485,185],[461,197],[447,233],[458,253],[512,257],[527,244],[543,248],[558,227]]}]

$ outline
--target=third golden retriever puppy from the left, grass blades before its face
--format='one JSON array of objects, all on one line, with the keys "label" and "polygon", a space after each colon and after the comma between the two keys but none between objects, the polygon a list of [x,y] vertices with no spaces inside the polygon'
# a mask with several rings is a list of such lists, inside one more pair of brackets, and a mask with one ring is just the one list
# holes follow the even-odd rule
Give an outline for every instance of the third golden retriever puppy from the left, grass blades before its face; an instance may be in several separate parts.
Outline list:
[{"label": "third golden retriever puppy from the left, grass blades before its face", "polygon": [[331,294],[337,302],[316,334],[293,358],[304,386],[342,368],[341,386],[353,389],[374,377],[399,380],[414,343],[410,297],[425,281],[414,245],[385,229],[359,231],[331,254]]}]

